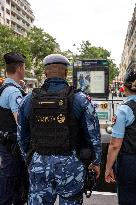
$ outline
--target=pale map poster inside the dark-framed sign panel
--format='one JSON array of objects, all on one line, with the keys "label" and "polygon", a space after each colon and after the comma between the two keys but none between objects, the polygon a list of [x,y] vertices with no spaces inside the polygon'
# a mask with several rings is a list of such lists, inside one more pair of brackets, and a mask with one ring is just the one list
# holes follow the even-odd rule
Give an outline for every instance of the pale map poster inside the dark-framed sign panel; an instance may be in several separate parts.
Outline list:
[{"label": "pale map poster inside the dark-framed sign panel", "polygon": [[104,71],[77,72],[77,88],[88,93],[105,92]]}]

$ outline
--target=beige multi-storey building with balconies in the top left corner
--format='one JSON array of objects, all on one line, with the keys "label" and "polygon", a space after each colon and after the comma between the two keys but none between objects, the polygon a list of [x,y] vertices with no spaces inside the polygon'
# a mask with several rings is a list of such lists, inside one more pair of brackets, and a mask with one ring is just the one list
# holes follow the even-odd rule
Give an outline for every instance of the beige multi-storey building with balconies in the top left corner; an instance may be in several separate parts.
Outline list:
[{"label": "beige multi-storey building with balconies in the top left corner", "polygon": [[0,0],[0,24],[25,35],[34,22],[34,14],[27,0]]}]

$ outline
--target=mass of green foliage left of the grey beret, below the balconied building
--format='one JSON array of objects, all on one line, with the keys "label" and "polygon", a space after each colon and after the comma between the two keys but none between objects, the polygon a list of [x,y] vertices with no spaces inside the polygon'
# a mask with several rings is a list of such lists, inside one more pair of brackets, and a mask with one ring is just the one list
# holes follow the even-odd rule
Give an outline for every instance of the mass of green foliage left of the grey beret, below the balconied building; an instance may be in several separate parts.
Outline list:
[{"label": "mass of green foliage left of the grey beret, below the balconied building", "polygon": [[4,65],[5,53],[22,53],[26,56],[27,76],[29,77],[31,69],[34,69],[36,77],[40,77],[43,73],[44,57],[60,51],[56,39],[41,28],[33,27],[27,36],[18,36],[9,27],[0,25],[0,34],[0,65]]}]

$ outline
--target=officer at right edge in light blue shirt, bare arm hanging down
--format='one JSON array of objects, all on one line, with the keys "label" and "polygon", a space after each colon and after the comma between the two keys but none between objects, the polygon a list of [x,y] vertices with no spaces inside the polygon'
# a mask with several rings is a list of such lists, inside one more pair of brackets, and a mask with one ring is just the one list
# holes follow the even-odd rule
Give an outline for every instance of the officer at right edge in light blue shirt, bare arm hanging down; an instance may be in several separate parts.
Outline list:
[{"label": "officer at right edge in light blue shirt, bare arm hanging down", "polygon": [[136,204],[136,63],[131,63],[124,79],[126,101],[114,116],[112,139],[109,146],[105,180],[114,182],[113,165],[120,205]]}]

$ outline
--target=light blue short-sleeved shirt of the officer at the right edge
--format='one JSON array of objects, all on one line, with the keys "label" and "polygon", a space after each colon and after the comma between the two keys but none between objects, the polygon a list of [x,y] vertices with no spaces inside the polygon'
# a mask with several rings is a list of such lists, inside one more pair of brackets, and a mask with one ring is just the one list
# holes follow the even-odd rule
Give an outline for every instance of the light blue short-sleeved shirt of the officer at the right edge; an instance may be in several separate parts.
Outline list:
[{"label": "light blue short-sleeved shirt of the officer at the right edge", "polygon": [[[129,96],[125,102],[134,100],[136,102],[136,95]],[[135,116],[132,109],[128,105],[122,104],[116,111],[116,122],[112,129],[112,137],[124,138],[126,127],[130,126],[134,120]]]}]

